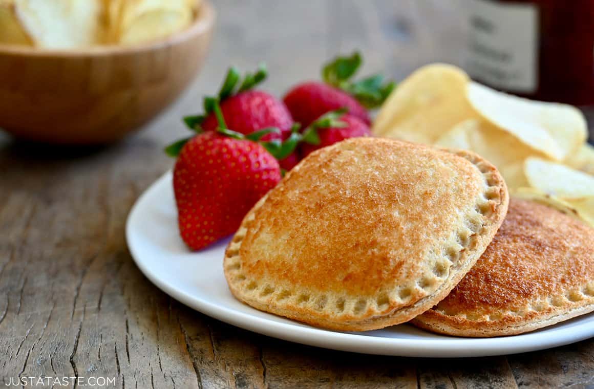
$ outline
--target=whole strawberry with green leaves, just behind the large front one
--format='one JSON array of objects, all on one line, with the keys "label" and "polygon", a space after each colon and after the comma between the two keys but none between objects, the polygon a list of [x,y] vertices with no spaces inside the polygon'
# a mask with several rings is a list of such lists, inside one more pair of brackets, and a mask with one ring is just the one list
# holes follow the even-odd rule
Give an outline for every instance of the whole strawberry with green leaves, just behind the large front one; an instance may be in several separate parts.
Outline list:
[{"label": "whole strawberry with green leaves, just behind the large front one", "polygon": [[213,99],[217,99],[227,124],[233,131],[248,135],[263,128],[276,127],[280,129],[280,134],[271,132],[264,140],[285,140],[289,137],[293,124],[289,110],[270,93],[252,90],[266,77],[267,70],[264,65],[260,65],[255,74],[248,73],[239,84],[239,71],[231,67],[218,96],[204,98],[204,115],[188,116],[185,118],[187,124],[191,128],[199,125],[204,131],[216,131],[219,124],[213,112],[212,102]]}]

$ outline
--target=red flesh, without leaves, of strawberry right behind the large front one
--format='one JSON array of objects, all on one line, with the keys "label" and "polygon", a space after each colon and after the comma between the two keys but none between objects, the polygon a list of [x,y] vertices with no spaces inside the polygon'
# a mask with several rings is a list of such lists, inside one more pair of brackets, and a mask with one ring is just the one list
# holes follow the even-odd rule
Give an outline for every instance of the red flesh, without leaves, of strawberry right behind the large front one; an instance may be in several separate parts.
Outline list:
[{"label": "red flesh, without leaves, of strawberry right behind the large front one", "polygon": [[[230,96],[220,106],[227,125],[233,131],[248,135],[266,127],[280,129],[280,134],[270,133],[263,140],[284,140],[293,125],[293,118],[283,102],[261,90],[248,90]],[[215,131],[217,126],[213,112],[201,124],[204,131]]]}]

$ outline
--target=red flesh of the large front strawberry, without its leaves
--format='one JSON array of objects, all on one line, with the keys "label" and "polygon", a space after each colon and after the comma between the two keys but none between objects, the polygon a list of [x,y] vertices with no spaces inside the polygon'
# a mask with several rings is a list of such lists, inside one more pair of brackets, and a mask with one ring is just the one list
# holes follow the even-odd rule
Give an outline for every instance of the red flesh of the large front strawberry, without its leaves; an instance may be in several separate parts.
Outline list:
[{"label": "red flesh of the large front strawberry, without its leaves", "polygon": [[182,239],[198,250],[235,232],[280,178],[279,163],[258,143],[214,131],[191,138],[173,169]]}]

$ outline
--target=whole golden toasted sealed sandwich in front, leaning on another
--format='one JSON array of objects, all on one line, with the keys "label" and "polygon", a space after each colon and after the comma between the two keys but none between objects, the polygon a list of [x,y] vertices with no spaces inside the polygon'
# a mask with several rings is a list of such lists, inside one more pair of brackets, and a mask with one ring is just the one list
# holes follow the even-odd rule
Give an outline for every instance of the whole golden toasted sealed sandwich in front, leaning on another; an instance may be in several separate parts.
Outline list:
[{"label": "whole golden toasted sealed sandwich in front, leaning on another", "polygon": [[226,250],[233,295],[334,330],[408,321],[443,299],[507,211],[467,151],[355,138],[312,153],[247,214]]}]

